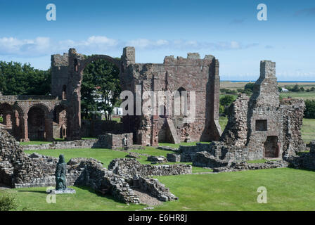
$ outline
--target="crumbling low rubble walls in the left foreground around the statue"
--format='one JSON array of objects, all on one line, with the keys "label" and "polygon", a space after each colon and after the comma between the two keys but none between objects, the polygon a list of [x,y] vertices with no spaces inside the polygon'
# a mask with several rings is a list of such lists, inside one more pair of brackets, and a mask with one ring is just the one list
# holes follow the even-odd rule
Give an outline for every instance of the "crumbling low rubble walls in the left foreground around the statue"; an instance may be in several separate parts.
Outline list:
[{"label": "crumbling low rubble walls in the left foreground around the statue", "polygon": [[[191,173],[191,166],[140,165],[133,160],[114,160],[115,169],[106,169],[92,158],[72,158],[67,163],[68,186],[89,186],[105,195],[113,195],[123,203],[138,204],[139,197],[133,188],[146,191],[161,201],[176,200],[157,179],[148,176]],[[33,153],[26,155],[17,141],[4,129],[0,129],[0,183],[13,188],[55,186],[58,158]],[[134,171],[134,164],[139,172]],[[129,169],[125,165],[129,165]],[[124,169],[119,169],[124,167]],[[125,173],[122,173],[124,170]],[[116,172],[120,172],[120,174]]]}]

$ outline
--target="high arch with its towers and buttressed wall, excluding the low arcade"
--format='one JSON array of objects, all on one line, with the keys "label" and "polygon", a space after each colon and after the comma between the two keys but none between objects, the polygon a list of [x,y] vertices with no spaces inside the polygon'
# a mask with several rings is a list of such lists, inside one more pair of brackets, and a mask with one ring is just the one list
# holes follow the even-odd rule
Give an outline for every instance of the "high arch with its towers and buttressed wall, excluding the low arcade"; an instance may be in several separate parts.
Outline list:
[{"label": "high arch with its towers and buttressed wall, excluding the low arcade", "polygon": [[[134,134],[134,143],[143,146],[157,146],[160,141],[212,141],[221,135],[219,127],[219,62],[213,56],[200,59],[198,53],[188,53],[187,58],[165,58],[163,64],[136,63],[134,47],[126,47],[120,60],[109,56],[84,57],[75,49],[69,53],[51,56],[53,95],[68,102],[68,139],[77,139],[80,129],[80,84],[85,66],[92,60],[105,59],[115,63],[120,69],[122,90],[141,91],[175,91],[184,88],[196,91],[195,122],[185,121],[185,117],[170,117],[170,120],[159,116],[130,115],[122,118],[124,132]],[[165,103],[158,103],[162,105]],[[135,105],[136,107],[136,105]],[[91,132],[94,133],[94,132]],[[160,138],[159,138],[160,136]]]}]

